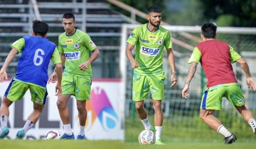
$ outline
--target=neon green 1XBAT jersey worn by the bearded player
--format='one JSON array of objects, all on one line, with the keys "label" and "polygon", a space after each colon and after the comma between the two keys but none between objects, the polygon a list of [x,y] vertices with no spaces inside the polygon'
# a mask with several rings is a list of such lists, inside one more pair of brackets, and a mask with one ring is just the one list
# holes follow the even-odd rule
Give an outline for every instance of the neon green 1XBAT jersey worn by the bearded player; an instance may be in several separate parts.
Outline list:
[{"label": "neon green 1XBAT jersey worn by the bearded player", "polygon": [[136,27],[127,43],[136,45],[135,61],[139,67],[134,69],[137,75],[157,75],[164,73],[163,51],[172,47],[170,32],[159,26],[155,32],[148,29],[148,24]]}]

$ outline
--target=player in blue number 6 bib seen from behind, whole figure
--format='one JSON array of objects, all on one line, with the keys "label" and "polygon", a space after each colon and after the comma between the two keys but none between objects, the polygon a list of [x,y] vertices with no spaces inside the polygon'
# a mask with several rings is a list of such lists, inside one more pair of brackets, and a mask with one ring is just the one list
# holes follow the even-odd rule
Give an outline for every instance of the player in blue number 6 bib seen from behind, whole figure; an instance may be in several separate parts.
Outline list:
[{"label": "player in blue number 6 bib seen from behind, whole figure", "polygon": [[32,36],[24,36],[12,43],[12,50],[7,56],[4,65],[0,71],[0,82],[7,79],[7,67],[14,56],[22,52],[17,64],[17,72],[4,94],[0,107],[2,131],[0,138],[4,138],[8,133],[7,128],[9,106],[12,102],[21,100],[27,90],[30,90],[33,108],[31,115],[27,118],[24,127],[17,132],[17,138],[22,139],[27,131],[36,124],[42,113],[46,102],[48,80],[47,70],[50,59],[56,65],[58,83],[56,85],[56,96],[62,93],[62,64],[56,45],[47,39],[49,26],[42,21],[33,21]]}]

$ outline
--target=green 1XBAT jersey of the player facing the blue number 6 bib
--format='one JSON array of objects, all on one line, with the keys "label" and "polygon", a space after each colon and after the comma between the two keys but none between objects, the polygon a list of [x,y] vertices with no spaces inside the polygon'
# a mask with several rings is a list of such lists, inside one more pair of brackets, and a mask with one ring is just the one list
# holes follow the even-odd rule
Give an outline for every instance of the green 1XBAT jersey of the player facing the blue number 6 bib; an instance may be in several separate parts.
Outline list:
[{"label": "green 1XBAT jersey of the player facing the blue number 6 bib", "polygon": [[85,71],[79,69],[79,65],[86,62],[90,55],[89,51],[93,51],[96,45],[91,37],[83,31],[76,29],[75,33],[68,36],[66,32],[59,36],[59,52],[65,54],[65,71],[82,77],[84,75],[92,75],[91,65]]}]

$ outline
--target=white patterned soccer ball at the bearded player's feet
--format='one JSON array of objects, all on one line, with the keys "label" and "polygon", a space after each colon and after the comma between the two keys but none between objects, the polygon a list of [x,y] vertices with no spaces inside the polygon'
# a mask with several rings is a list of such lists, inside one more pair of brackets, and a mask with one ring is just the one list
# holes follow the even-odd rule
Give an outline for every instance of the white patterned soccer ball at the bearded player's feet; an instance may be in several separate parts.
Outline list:
[{"label": "white patterned soccer ball at the bearded player's feet", "polygon": [[151,130],[143,130],[139,135],[140,144],[154,144],[155,133]]}]

